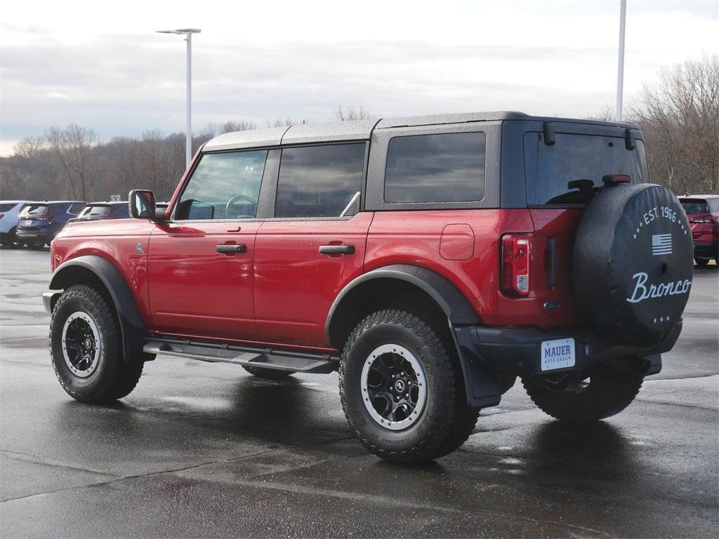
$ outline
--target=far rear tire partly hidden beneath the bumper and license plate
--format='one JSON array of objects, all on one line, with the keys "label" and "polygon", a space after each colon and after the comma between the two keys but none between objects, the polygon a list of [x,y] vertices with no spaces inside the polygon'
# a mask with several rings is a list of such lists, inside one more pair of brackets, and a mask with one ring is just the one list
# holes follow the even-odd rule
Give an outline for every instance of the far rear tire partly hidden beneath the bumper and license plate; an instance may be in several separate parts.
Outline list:
[{"label": "far rear tire partly hidden beneath the bumper and license plate", "polygon": [[522,384],[544,413],[568,423],[592,423],[624,410],[636,397],[644,377],[631,372],[619,372],[603,364],[592,367],[589,385],[581,391],[550,390],[531,379]]}]

